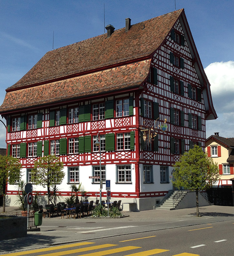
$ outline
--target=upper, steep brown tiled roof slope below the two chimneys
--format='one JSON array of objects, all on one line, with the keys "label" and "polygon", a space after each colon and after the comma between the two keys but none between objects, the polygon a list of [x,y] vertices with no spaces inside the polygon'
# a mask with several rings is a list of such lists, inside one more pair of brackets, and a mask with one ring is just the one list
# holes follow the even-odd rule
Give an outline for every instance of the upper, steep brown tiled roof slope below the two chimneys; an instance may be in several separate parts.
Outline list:
[{"label": "upper, steep brown tiled roof slope below the two chimneys", "polygon": [[183,9],[47,52],[7,89],[42,83],[133,59],[149,57],[166,38]]}]

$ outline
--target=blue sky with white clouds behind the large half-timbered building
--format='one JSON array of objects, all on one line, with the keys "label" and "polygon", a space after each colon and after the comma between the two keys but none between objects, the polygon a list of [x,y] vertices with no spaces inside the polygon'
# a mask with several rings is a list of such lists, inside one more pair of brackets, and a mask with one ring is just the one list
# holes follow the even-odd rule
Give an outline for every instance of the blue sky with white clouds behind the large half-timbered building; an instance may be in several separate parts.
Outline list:
[{"label": "blue sky with white clouds behind the large half-timbered building", "polygon": [[[116,29],[125,26],[125,18],[134,24],[175,10],[174,0],[0,0],[0,103],[5,89],[52,50],[53,31],[54,49],[103,34],[104,3],[105,25]],[[207,77],[214,84],[211,91],[219,118],[207,121],[207,137],[214,132],[234,137],[230,126],[234,124],[230,94],[234,92],[234,1],[176,0],[176,9],[181,8]],[[0,147],[6,147],[2,123]]]}]

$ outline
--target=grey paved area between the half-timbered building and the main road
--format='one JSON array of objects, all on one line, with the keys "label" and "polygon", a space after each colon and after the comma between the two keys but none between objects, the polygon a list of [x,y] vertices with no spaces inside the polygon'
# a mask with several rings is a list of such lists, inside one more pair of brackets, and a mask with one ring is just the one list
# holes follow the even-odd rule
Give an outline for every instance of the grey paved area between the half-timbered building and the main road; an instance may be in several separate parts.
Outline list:
[{"label": "grey paved area between the half-timbered building and the main road", "polygon": [[[17,207],[6,207],[7,212],[16,212]],[[20,212],[20,210],[17,210]],[[0,207],[2,212],[2,207]],[[71,242],[81,242],[97,238],[143,233],[168,228],[177,228],[219,221],[234,220],[234,207],[203,206],[178,210],[147,210],[141,212],[123,212],[125,218],[61,219],[43,218],[41,231],[28,232],[27,238],[2,240],[0,253],[23,251]]]}]

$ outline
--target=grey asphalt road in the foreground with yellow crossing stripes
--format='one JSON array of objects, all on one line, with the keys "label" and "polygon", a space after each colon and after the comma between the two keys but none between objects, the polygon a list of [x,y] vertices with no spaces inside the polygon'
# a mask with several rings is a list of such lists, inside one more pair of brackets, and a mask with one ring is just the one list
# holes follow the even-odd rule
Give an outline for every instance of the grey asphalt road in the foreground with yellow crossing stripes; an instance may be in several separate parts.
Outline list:
[{"label": "grey asphalt road in the foreground with yellow crossing stripes", "polygon": [[[109,238],[97,238],[75,244],[69,243],[39,248],[36,249],[37,251],[34,251],[34,249],[5,255],[233,256],[233,229],[234,221],[229,220]],[[115,229],[113,229],[113,232],[115,232]]]}]

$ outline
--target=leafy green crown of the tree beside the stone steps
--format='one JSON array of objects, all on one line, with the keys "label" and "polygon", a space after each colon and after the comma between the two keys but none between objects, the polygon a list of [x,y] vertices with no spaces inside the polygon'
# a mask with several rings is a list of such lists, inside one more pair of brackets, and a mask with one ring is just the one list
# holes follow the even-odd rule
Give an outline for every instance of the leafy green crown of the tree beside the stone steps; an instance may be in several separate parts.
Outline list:
[{"label": "leafy green crown of the tree beside the stone steps", "polygon": [[176,188],[202,190],[219,180],[217,164],[197,145],[185,152],[173,167],[173,185]]}]

